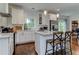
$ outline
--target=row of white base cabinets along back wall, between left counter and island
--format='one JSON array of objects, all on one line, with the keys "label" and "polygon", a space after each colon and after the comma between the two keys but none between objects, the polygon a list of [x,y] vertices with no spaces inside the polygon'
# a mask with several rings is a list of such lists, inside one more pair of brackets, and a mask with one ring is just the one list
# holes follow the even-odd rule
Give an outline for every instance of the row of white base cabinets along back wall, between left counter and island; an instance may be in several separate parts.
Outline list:
[{"label": "row of white base cabinets along back wall, between left counter and island", "polygon": [[35,32],[32,30],[26,30],[16,33],[16,44],[28,43],[35,41]]}]

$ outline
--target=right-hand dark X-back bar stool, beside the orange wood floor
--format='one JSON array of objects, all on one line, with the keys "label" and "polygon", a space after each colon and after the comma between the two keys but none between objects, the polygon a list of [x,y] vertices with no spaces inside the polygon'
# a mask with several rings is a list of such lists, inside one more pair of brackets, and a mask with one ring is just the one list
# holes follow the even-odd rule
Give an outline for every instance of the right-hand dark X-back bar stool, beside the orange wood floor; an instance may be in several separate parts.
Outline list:
[{"label": "right-hand dark X-back bar stool, beside the orange wood floor", "polygon": [[72,36],[71,31],[65,32],[65,51],[66,51],[66,54],[72,55],[71,36]]}]

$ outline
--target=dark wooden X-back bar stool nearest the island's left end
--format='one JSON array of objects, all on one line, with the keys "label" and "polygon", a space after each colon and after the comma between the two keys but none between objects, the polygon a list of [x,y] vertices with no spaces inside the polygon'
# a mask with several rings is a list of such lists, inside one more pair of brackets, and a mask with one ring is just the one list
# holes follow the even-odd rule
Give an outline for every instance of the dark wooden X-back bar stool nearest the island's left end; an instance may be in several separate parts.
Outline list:
[{"label": "dark wooden X-back bar stool nearest the island's left end", "polygon": [[[53,39],[49,39],[46,40],[46,51],[45,51],[45,55],[52,50],[52,53],[48,53],[48,54],[53,54],[53,55],[57,55],[57,54],[62,54],[62,34],[63,32],[54,32],[53,33]],[[51,45],[52,49],[48,50],[48,44]],[[61,49],[61,52],[58,52],[59,49]]]}]

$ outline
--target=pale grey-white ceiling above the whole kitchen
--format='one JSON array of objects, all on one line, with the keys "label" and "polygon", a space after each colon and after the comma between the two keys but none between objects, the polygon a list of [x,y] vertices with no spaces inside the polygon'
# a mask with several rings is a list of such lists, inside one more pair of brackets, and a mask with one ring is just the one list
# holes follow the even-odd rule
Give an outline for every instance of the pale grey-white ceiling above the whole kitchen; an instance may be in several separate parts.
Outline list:
[{"label": "pale grey-white ceiling above the whole kitchen", "polygon": [[25,11],[47,10],[57,12],[57,9],[60,9],[59,12],[63,15],[79,16],[79,3],[14,3],[14,5],[22,6]]}]

